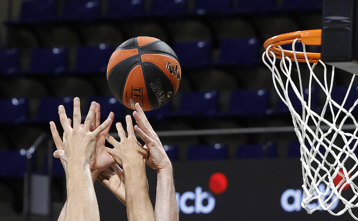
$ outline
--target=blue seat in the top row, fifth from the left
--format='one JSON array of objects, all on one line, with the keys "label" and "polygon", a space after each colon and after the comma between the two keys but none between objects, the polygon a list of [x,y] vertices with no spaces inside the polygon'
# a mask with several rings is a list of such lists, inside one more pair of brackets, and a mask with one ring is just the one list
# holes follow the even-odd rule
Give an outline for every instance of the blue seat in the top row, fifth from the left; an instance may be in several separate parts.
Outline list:
[{"label": "blue seat in the top row, fifth from the left", "polygon": [[231,0],[195,0],[194,10],[198,15],[230,13],[231,9]]}]

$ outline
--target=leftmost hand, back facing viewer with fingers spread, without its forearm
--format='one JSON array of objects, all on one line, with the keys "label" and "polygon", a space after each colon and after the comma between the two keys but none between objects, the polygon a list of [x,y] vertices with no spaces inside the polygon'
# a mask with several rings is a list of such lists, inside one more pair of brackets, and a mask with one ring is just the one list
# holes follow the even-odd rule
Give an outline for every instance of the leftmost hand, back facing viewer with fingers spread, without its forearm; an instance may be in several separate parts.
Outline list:
[{"label": "leftmost hand, back facing viewer with fingers spread, without its forearm", "polygon": [[[89,163],[95,149],[96,137],[110,125],[112,120],[109,118],[94,131],[89,130],[95,117],[95,109],[96,102],[92,102],[82,127],[80,101],[79,98],[76,97],[73,100],[73,128],[71,128],[71,124],[67,119],[66,111],[63,105],[58,107],[61,125],[63,127],[64,134],[66,134],[66,142],[63,142],[61,145],[63,148],[59,148],[54,152],[54,156],[59,157],[65,165],[68,165],[69,162]],[[57,131],[55,130],[53,122],[50,122],[50,125],[52,126],[53,132]],[[56,137],[56,146],[59,146],[59,136],[55,134],[54,137]],[[65,169],[67,168],[65,167]]]}]

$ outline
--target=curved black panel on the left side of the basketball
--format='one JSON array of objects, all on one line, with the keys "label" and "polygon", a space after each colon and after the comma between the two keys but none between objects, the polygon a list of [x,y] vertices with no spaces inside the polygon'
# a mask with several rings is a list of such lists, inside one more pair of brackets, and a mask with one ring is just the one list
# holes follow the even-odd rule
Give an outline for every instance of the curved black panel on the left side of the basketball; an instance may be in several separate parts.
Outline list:
[{"label": "curved black panel on the left side of the basketball", "polygon": [[108,86],[115,98],[125,105],[123,102],[124,86],[130,71],[139,64],[139,56],[126,58],[116,64],[108,74]]}]

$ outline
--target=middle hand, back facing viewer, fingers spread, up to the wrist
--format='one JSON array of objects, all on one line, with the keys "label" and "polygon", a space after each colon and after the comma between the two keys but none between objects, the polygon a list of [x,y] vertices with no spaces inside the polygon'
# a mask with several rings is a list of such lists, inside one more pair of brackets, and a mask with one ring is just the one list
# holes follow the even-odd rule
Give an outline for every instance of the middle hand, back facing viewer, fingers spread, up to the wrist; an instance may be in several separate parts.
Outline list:
[{"label": "middle hand, back facing viewer, fingers spread, up to the wrist", "polygon": [[113,138],[113,136],[110,136],[109,134],[106,136],[108,142],[114,146],[113,149],[106,148],[107,152],[110,153],[116,162],[123,167],[124,164],[134,163],[140,159],[144,160],[147,157],[146,150],[137,141],[134,135],[133,124],[130,115],[126,116],[126,123],[128,138],[126,137],[126,133],[120,122],[116,124],[116,128],[121,141],[118,142],[115,138]]}]

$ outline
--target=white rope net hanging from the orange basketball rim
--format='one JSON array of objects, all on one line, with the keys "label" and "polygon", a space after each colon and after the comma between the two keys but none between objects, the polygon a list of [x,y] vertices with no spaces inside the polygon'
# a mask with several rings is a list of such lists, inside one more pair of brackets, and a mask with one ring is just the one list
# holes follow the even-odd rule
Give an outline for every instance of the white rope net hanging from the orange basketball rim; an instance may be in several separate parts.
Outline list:
[{"label": "white rope net hanging from the orange basketball rim", "polygon": [[[343,102],[338,104],[331,97],[334,67],[328,76],[327,67],[321,60],[310,64],[305,44],[299,42],[303,46],[306,58],[306,63],[303,64],[309,69],[309,80],[303,82],[296,58],[296,42],[298,39],[292,43],[293,62],[289,57],[285,57],[281,46],[277,47],[280,48],[282,56],[276,58],[275,54],[270,51],[271,45],[262,54],[262,61],[272,73],[272,80],[280,99],[290,110],[294,130],[300,142],[303,175],[301,206],[309,214],[316,210],[325,210],[332,215],[339,216],[348,211],[355,220],[358,220],[352,212],[352,208],[358,207],[358,187],[354,183],[358,176],[358,159],[354,153],[358,145],[358,125],[351,114],[358,104],[358,99],[355,100],[353,106],[344,108],[356,76],[353,74]],[[277,66],[276,60],[279,64]],[[323,73],[320,75],[314,73],[317,65],[323,67]],[[291,75],[291,72],[295,74]],[[303,84],[308,86],[308,89],[304,89]],[[326,97],[319,111],[311,108],[312,88],[314,87],[320,88]],[[304,96],[307,93],[308,97]],[[295,110],[292,106],[293,97],[299,99],[302,110],[297,108]],[[355,125],[353,133],[342,130],[342,126],[348,122]],[[329,129],[323,130],[321,128],[323,125],[328,126]]]}]

